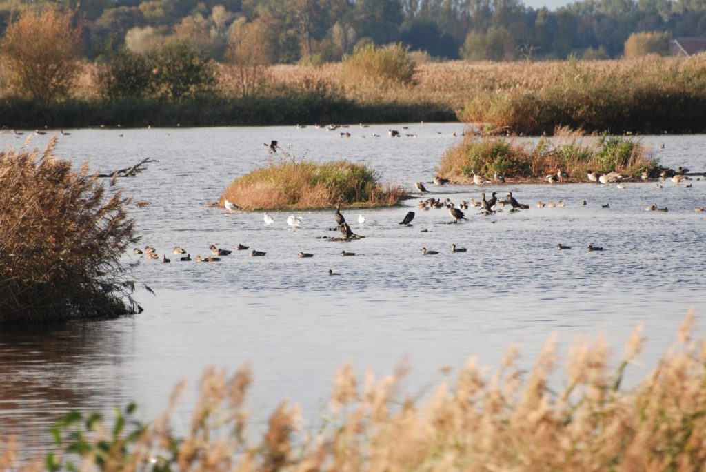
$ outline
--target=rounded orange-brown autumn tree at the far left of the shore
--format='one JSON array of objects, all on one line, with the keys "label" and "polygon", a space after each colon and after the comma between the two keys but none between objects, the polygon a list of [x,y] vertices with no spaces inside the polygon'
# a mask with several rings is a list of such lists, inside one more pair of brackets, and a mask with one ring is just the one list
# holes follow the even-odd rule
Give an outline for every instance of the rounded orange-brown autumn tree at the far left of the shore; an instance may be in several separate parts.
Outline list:
[{"label": "rounded orange-brown autumn tree at the far left of the shore", "polygon": [[8,26],[0,54],[8,85],[18,95],[42,103],[68,95],[78,74],[80,27],[73,12],[29,11]]}]

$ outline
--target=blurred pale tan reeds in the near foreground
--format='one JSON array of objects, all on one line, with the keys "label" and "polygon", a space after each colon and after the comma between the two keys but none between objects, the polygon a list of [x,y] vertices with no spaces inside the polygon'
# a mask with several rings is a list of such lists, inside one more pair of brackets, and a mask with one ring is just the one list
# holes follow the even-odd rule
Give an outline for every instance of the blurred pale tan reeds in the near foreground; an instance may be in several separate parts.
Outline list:
[{"label": "blurred pale tan reeds in the near foreground", "polygon": [[[359,379],[344,365],[329,419],[313,432],[304,432],[299,409],[283,402],[261,439],[248,440],[256,436],[246,434],[251,373],[244,365],[232,377],[205,372],[186,437],[169,426],[176,393],[151,425],[133,421],[132,405],[118,412],[113,428],[74,411],[59,420],[54,437],[61,449],[80,453],[83,470],[698,471],[706,466],[706,339],[691,339],[692,322],[689,313],[676,345],[630,389],[622,379],[642,349],[641,324],[616,369],[602,337],[576,339],[558,391],[552,336],[529,373],[517,366],[514,347],[492,373],[472,357],[455,381],[441,382],[423,401],[397,398],[403,368]],[[17,446],[5,439],[0,445],[5,469]],[[70,461],[48,454],[44,463],[59,470]]]}]

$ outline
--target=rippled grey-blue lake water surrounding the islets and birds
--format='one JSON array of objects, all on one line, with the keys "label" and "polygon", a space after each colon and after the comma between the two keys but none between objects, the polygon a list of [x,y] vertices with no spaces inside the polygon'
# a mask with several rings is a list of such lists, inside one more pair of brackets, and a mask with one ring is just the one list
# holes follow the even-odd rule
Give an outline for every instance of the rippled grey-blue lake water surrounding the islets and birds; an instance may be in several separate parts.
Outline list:
[{"label": "rippled grey-blue lake water surrounding the islets and birds", "polygon": [[[155,418],[179,380],[188,379],[193,392],[208,365],[232,371],[246,361],[255,377],[248,404],[256,425],[284,398],[301,404],[311,423],[346,361],[385,375],[406,358],[405,392],[424,394],[443,378],[443,365],[459,368],[477,355],[481,365],[495,367],[511,344],[530,367],[551,332],[559,333],[562,349],[578,334],[603,333],[620,353],[642,320],[647,343],[642,364],[630,370],[634,380],[671,345],[688,308],[705,313],[706,214],[694,211],[706,205],[704,180],[692,188],[628,183],[623,190],[489,185],[486,192],[510,190],[530,210],[484,217],[472,209],[468,222],[450,225],[443,224],[448,211],[421,212],[417,199],[393,209],[344,210],[349,222],[366,217],[364,225],[352,224],[365,238],[350,243],[320,238],[333,234],[333,211],[299,212],[303,222],[293,231],[287,212],[273,212],[275,224],[265,226],[261,212],[224,214],[204,205],[265,163],[263,143],[273,139],[289,155],[369,163],[383,181],[414,188],[415,181],[431,181],[443,152],[461,139],[453,133],[460,136],[462,125],[407,126],[393,128],[417,138],[389,138],[390,126],[351,127],[351,138],[313,126],[87,129],[60,136],[56,153],[77,166],[88,161],[109,171],[144,157],[159,161],[119,185],[150,203],[131,208],[140,246],[155,246],[172,263],[140,262],[135,278],[156,293],[138,291],[141,315],[0,327],[0,437],[15,435],[30,456],[48,446],[49,426],[69,409],[109,413],[136,401],[142,418]],[[48,138],[36,136],[32,146]],[[8,135],[0,140],[3,147],[22,145]],[[664,165],[706,171],[706,135],[641,140]],[[456,202],[479,199],[481,191],[427,187]],[[563,200],[566,207],[539,209],[537,200]],[[653,202],[669,212],[645,212]],[[417,212],[414,226],[398,225],[410,209]],[[573,250],[556,250],[560,242]],[[205,255],[211,243],[227,249],[243,243],[267,255],[234,251],[218,264],[177,262],[172,255],[176,245]],[[450,253],[450,243],[468,252]],[[588,252],[589,243],[605,250]],[[423,246],[441,254],[421,255]],[[342,258],[343,249],[358,255]],[[300,250],[314,257],[299,259]],[[330,269],[340,276],[329,277]],[[698,322],[698,334],[702,328]],[[186,424],[189,401],[187,395],[177,425]]]}]

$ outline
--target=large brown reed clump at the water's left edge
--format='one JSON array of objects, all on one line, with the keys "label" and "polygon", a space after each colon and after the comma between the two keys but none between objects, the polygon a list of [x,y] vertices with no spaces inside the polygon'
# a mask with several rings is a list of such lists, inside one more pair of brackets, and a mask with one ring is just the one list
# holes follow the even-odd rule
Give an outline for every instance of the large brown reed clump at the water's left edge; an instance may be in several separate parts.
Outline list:
[{"label": "large brown reed clump at the water's left edge", "polygon": [[134,313],[121,265],[136,242],[120,191],[88,166],[38,150],[0,152],[0,322],[51,322]]}]

